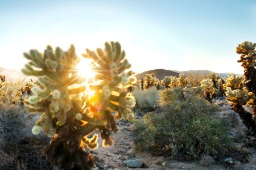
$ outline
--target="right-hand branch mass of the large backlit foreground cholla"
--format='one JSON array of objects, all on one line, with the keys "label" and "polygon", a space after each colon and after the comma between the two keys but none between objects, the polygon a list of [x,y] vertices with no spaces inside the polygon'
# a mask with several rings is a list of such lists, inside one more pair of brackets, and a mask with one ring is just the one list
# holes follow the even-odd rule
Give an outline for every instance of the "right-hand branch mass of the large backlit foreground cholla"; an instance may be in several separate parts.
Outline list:
[{"label": "right-hand branch mass of the large backlit foreground cholla", "polygon": [[[126,118],[133,120],[132,108],[128,103],[135,101],[134,97],[126,91],[126,88],[120,86],[132,85],[136,82],[133,71],[125,73],[126,69],[130,69],[131,65],[125,59],[125,51],[121,50],[119,42],[106,42],[104,51],[97,49],[96,53],[86,49],[87,54],[82,54],[85,58],[94,60],[93,70],[96,72],[95,79],[99,83],[90,86],[94,90],[94,96],[87,101],[91,112],[96,108],[100,112],[105,113],[106,117],[113,116],[109,113],[114,111],[115,118]],[[109,93],[105,93],[104,89],[108,89]],[[108,94],[108,95],[106,95]],[[97,107],[95,104],[98,104]],[[115,124],[115,122],[109,122]],[[115,127],[113,130],[115,131]]]}]

